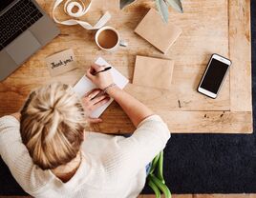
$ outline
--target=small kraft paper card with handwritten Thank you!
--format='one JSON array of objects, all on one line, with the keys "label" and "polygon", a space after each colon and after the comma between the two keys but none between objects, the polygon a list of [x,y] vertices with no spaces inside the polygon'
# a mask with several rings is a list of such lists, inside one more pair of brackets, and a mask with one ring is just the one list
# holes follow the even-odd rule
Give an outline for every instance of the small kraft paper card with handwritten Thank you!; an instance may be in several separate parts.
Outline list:
[{"label": "small kraft paper card with handwritten Thank you!", "polygon": [[48,56],[46,64],[52,76],[77,68],[73,49],[66,49]]}]

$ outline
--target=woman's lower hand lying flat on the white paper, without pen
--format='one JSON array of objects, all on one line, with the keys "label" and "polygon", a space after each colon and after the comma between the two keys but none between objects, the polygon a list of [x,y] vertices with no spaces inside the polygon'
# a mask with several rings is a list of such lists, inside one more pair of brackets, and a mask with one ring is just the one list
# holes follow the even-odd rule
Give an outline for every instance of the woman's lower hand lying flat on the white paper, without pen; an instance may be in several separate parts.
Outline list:
[{"label": "woman's lower hand lying flat on the white paper, without pen", "polygon": [[[96,97],[96,95],[100,92],[100,89],[93,89],[90,92],[86,93],[85,96],[82,98],[82,105],[83,109],[87,114],[91,114],[92,111],[99,108],[100,106],[106,104],[110,97],[107,94],[99,95]],[[96,97],[96,98],[95,98]],[[88,118],[89,123],[100,123],[102,122],[102,119],[100,118]]]}]

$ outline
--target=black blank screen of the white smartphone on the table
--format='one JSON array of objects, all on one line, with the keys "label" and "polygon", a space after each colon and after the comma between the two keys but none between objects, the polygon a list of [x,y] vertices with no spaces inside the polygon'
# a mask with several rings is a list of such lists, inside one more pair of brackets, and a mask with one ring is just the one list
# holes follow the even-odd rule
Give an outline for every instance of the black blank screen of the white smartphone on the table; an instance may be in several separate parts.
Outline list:
[{"label": "black blank screen of the white smartphone on the table", "polygon": [[229,65],[213,58],[203,77],[203,82],[200,87],[217,94],[228,67]]}]

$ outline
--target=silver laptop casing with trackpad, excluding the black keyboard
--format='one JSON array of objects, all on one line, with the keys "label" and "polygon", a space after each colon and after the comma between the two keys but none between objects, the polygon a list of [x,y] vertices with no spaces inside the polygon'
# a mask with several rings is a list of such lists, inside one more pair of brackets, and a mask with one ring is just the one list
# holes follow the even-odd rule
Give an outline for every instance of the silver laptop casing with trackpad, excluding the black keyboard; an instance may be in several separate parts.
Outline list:
[{"label": "silver laptop casing with trackpad, excluding the black keyboard", "polygon": [[[15,69],[18,69],[27,61],[34,52],[47,45],[60,33],[45,11],[34,0],[31,1],[43,16],[0,51],[0,81],[6,79]],[[19,0],[13,1],[7,10],[11,9],[17,2]],[[1,11],[0,15],[5,11],[6,9]]]}]

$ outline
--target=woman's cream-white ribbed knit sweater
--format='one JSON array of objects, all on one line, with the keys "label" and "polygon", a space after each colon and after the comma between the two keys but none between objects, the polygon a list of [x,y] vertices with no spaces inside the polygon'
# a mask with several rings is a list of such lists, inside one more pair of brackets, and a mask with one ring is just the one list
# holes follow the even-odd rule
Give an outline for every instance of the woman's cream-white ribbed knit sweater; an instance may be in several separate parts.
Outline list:
[{"label": "woman's cream-white ribbed knit sweater", "polygon": [[83,159],[63,183],[32,163],[21,141],[20,124],[0,118],[0,154],[18,184],[34,197],[135,198],[145,185],[145,167],[162,150],[170,131],[158,115],[143,120],[131,137],[86,132]]}]

